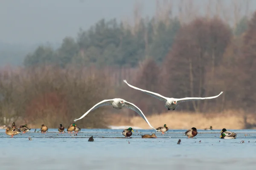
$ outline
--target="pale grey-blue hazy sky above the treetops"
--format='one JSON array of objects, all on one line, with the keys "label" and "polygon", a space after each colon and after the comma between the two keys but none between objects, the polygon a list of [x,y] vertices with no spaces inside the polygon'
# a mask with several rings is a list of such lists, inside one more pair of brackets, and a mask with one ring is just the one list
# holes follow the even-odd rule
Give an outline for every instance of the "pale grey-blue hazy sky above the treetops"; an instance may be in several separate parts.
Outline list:
[{"label": "pale grey-blue hazy sky above the treetops", "polygon": [[[255,1],[251,6],[256,6]],[[136,2],[143,3],[144,16],[154,15],[155,0],[1,0],[0,42],[61,42],[102,18],[132,20]]]}]

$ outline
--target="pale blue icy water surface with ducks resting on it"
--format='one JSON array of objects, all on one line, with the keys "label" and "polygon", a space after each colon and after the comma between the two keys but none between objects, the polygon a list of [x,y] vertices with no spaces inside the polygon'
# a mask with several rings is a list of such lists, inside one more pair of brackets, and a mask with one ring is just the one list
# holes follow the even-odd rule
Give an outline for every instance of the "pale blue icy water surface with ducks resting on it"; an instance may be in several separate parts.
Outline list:
[{"label": "pale blue icy water surface with ducks resting on it", "polygon": [[[34,130],[13,138],[0,130],[0,170],[256,168],[256,130],[229,129],[237,133],[236,139],[219,139],[221,130],[198,130],[193,139],[183,135],[186,130],[169,130],[164,135],[154,130],[134,130],[132,138],[126,139],[122,130],[82,129],[77,136],[59,134],[57,129],[49,129],[46,134]],[[151,133],[157,138],[140,136]],[[90,136],[94,142],[88,142]]]}]

